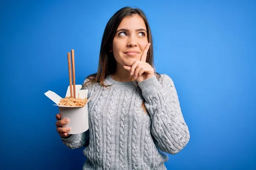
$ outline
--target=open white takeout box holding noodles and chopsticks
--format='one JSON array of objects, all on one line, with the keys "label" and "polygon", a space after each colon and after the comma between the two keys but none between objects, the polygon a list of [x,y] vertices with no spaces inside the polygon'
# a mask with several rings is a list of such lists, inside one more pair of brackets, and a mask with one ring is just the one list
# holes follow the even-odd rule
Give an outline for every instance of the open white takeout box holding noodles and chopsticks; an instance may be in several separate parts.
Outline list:
[{"label": "open white takeout box holding noodles and chopsticks", "polygon": [[[79,98],[81,99],[84,99],[85,97],[87,98],[88,90],[81,90],[81,88],[82,85],[76,85],[76,97],[79,96]],[[47,91],[45,95],[53,102],[55,102],[55,106],[58,106],[61,119],[69,119],[69,122],[66,125],[62,126],[64,128],[71,128],[68,134],[83,133],[88,130],[88,101],[86,105],[84,105],[84,107],[64,106],[58,105],[58,103],[61,101],[61,96],[59,96],[58,94],[55,94],[52,91]],[[67,96],[70,96],[70,86],[68,86],[67,88],[66,97]]]}]

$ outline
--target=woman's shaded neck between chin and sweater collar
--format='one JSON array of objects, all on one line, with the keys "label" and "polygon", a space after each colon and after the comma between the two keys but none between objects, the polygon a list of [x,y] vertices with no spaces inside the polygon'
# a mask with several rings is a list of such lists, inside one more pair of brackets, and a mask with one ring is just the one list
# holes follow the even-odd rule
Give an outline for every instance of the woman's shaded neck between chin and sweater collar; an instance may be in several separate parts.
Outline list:
[{"label": "woman's shaded neck between chin and sweater collar", "polygon": [[122,65],[116,63],[116,72],[111,75],[112,79],[118,82],[131,82],[135,79],[130,75],[130,71],[123,68]]}]

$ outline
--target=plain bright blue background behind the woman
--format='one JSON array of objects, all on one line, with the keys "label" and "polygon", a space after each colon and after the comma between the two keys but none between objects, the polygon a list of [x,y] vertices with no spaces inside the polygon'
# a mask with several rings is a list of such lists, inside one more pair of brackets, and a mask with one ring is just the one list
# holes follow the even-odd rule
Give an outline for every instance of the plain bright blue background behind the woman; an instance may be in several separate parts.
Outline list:
[{"label": "plain bright blue background behind the woman", "polygon": [[139,7],[154,38],[157,72],[175,82],[190,141],[170,170],[256,169],[256,1],[0,2],[0,169],[82,169],[82,148],[56,132],[67,52],[76,84],[97,70],[102,34],[124,6]]}]

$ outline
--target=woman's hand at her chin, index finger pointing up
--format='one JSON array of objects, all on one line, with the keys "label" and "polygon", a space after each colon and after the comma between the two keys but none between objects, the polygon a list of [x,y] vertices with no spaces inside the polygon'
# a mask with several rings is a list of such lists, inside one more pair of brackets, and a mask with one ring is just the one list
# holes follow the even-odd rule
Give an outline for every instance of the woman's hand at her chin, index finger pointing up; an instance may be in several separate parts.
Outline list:
[{"label": "woman's hand at her chin, index finger pointing up", "polygon": [[142,82],[143,80],[154,76],[154,68],[152,68],[151,65],[146,62],[149,46],[150,43],[146,45],[140,61],[135,61],[131,67],[124,65],[124,68],[130,71],[131,75],[134,75],[137,82]]}]

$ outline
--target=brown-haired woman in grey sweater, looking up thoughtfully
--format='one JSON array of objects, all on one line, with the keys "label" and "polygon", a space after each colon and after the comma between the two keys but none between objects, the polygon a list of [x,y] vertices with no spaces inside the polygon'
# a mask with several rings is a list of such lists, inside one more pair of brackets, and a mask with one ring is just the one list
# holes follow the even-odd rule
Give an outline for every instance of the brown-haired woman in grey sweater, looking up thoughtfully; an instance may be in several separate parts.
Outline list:
[{"label": "brown-haired woman in grey sweater, looking up thoughtfully", "polygon": [[[117,11],[105,28],[96,74],[83,85],[89,130],[68,135],[57,114],[57,131],[72,149],[85,147],[84,170],[166,170],[166,153],[178,153],[189,130],[170,77],[154,71],[148,20],[138,8]],[[166,153],[163,153],[166,152]]]}]

